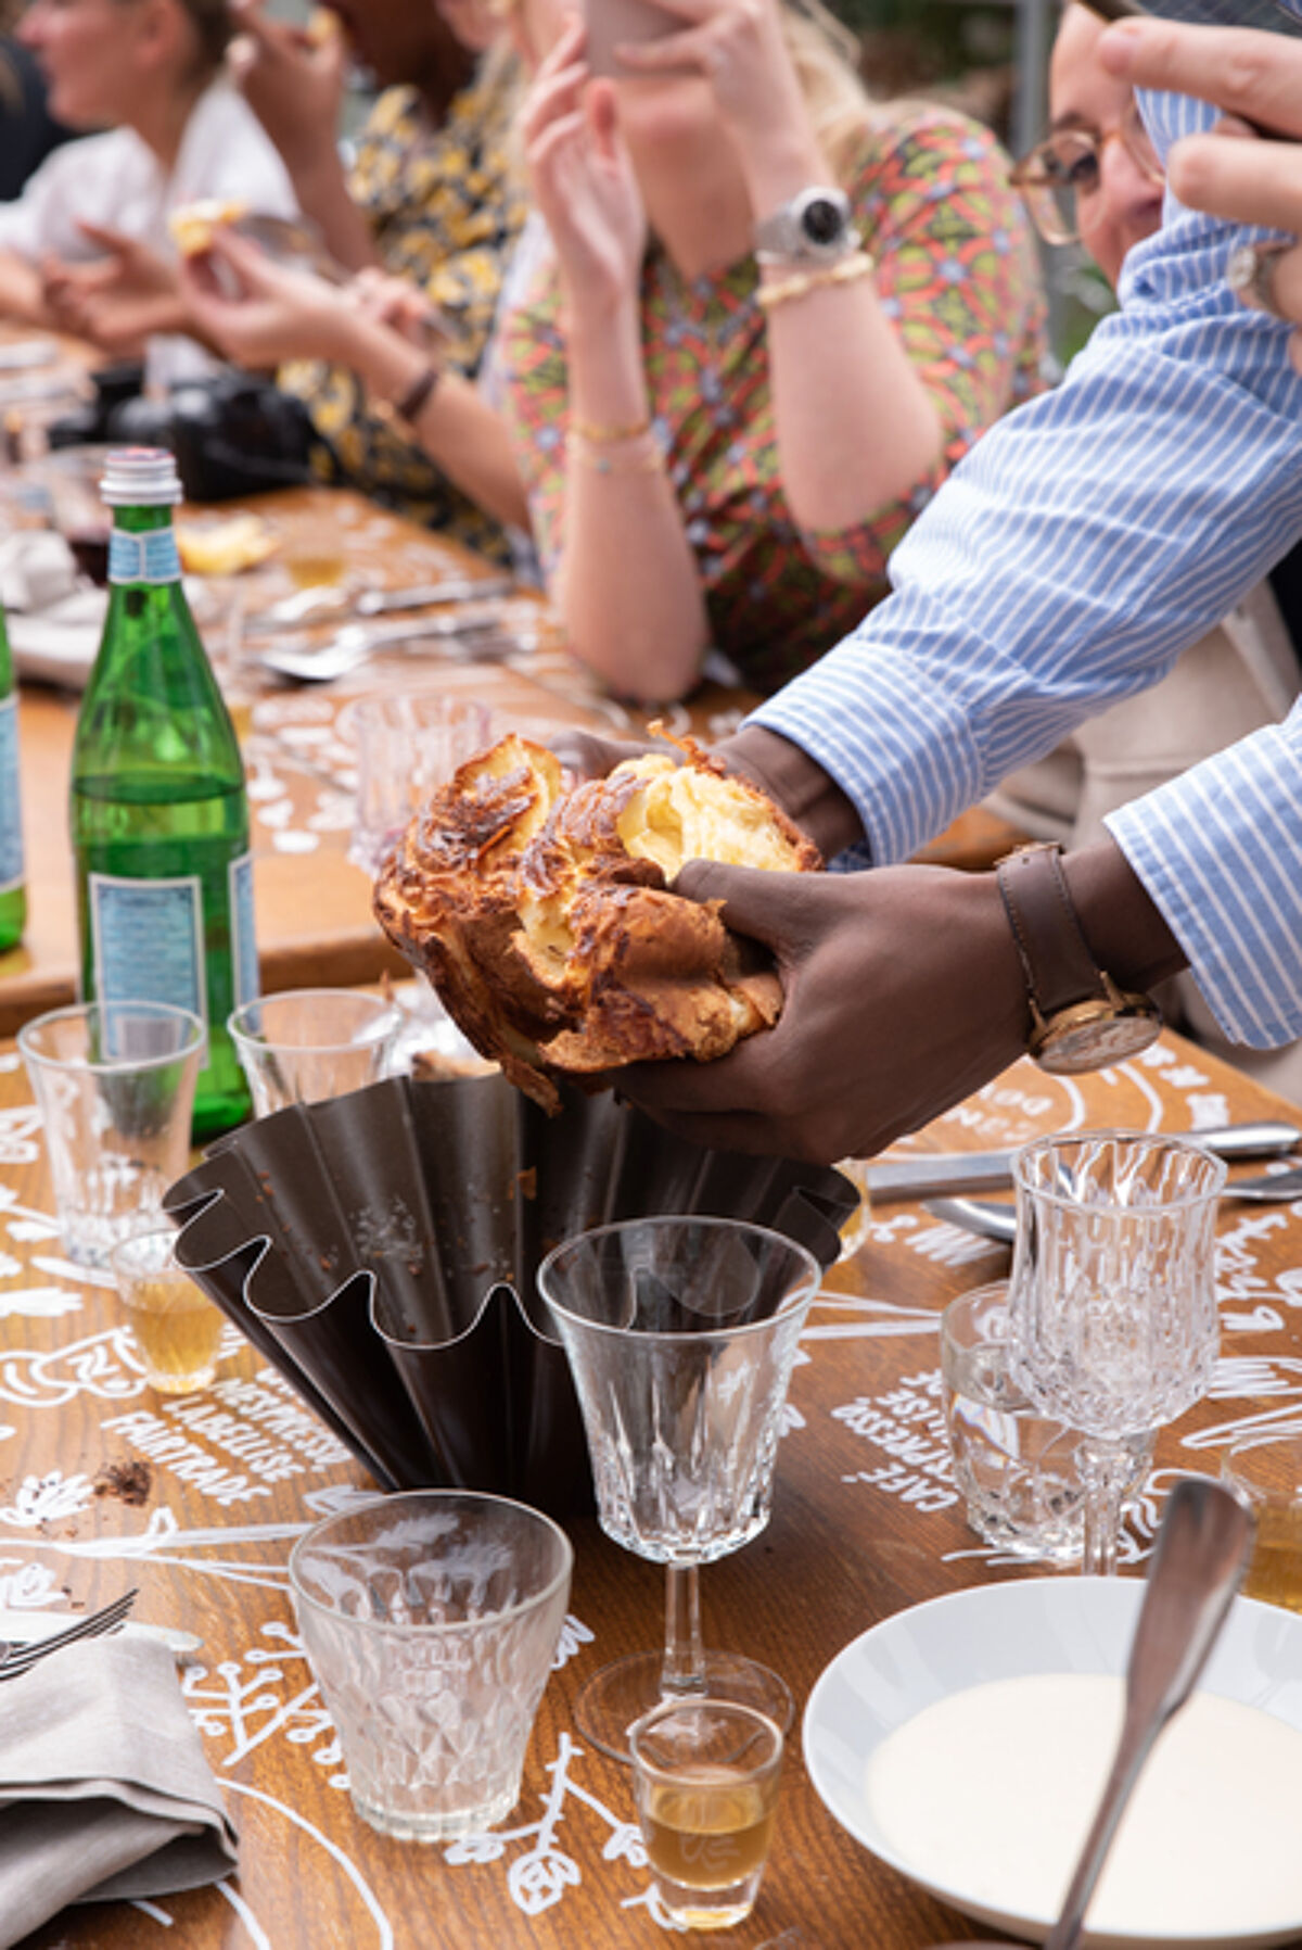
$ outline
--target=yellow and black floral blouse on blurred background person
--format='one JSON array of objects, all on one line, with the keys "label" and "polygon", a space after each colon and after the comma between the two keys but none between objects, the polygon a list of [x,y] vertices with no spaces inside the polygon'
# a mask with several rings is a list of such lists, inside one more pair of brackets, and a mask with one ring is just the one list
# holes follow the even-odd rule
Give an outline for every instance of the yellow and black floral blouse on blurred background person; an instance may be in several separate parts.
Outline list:
[{"label": "yellow and black floral blouse on blurred background person", "polygon": [[[515,64],[491,64],[431,129],[413,88],[388,88],[357,144],[349,187],[366,211],[384,269],[427,292],[452,330],[448,367],[474,378],[487,343],[501,279],[528,209],[511,162],[518,101]],[[322,439],[322,480],[359,488],[472,548],[503,556],[501,528],[466,499],[400,429],[366,410],[345,367],[296,359],[281,386],[308,408]]]}]

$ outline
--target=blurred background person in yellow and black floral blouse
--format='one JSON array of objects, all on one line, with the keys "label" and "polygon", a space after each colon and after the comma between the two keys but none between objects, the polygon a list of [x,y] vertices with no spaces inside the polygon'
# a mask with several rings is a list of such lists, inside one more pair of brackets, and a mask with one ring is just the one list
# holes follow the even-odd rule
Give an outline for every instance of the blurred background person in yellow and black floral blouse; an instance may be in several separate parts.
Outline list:
[{"label": "blurred background person in yellow and black floral blouse", "polygon": [[[240,82],[331,257],[403,281],[411,300],[363,287],[355,304],[230,238],[214,254],[224,283],[195,281],[195,318],[242,365],[279,365],[322,480],[501,556],[524,503],[474,380],[528,207],[511,154],[520,70],[481,0],[339,0],[329,18],[337,33],[320,16],[298,29],[246,0]],[[349,58],[380,94],[345,170]]]}]

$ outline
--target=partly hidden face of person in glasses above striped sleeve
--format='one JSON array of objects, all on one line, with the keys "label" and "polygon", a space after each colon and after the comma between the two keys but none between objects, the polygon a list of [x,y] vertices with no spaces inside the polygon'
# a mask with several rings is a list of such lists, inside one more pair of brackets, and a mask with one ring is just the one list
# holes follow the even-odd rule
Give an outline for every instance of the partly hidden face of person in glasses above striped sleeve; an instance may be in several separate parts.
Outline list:
[{"label": "partly hidden face of person in glasses above striped sleeve", "polygon": [[1127,252],[1162,222],[1162,181],[1121,140],[1134,117],[1134,92],[1097,58],[1103,25],[1084,6],[1062,16],[1049,66],[1049,117],[1053,131],[1082,129],[1101,144],[1097,179],[1078,181],[1076,214],[1080,242],[1115,285]]}]

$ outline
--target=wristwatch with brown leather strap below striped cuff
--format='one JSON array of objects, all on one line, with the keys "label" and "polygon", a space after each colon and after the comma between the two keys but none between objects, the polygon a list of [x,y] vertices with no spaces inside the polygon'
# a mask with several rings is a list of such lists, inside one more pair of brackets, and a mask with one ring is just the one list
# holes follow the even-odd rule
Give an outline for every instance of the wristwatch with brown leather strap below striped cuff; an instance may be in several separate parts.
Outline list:
[{"label": "wristwatch with brown leather strap below striped cuff", "polygon": [[1058,844],[1017,846],[996,866],[1031,1004],[1027,1053],[1054,1076],[1101,1071],[1148,1049],[1162,1010],[1127,994],[1090,950]]}]

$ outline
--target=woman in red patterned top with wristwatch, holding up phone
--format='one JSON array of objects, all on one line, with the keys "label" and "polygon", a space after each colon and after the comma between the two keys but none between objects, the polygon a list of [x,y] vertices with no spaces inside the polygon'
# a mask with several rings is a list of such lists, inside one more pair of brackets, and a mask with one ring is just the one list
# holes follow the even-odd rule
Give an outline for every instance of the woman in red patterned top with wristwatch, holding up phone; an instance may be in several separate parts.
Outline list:
[{"label": "woman in red patterned top with wristwatch, holding up phone", "polygon": [[[690,692],[711,647],[762,690],[813,661],[1041,357],[988,131],[869,103],[821,10],[663,4],[672,31],[618,80],[571,16],[534,84],[555,269],[505,351],[571,649],[641,700]],[[797,218],[815,191],[823,238]]]}]

